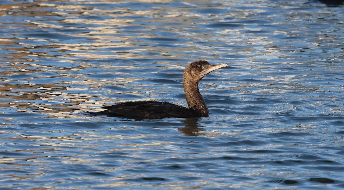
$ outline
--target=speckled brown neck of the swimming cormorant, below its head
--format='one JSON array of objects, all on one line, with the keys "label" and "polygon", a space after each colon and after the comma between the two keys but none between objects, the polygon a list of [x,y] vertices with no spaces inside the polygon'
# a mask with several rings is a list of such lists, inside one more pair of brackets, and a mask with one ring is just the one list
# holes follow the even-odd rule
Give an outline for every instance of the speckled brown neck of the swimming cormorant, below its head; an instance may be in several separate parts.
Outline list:
[{"label": "speckled brown neck of the swimming cormorant, below its head", "polygon": [[209,110],[198,89],[198,82],[187,82],[183,80],[183,87],[189,109],[196,112],[199,116],[208,116]]}]

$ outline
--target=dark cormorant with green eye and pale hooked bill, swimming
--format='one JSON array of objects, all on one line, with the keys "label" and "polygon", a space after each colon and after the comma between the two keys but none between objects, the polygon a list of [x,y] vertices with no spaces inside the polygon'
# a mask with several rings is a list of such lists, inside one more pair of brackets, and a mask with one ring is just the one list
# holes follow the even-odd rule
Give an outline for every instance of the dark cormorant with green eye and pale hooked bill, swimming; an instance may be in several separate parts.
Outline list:
[{"label": "dark cormorant with green eye and pale hooked bill, swimming", "polygon": [[89,116],[115,116],[126,118],[160,119],[167,117],[207,117],[209,110],[198,89],[198,83],[210,72],[228,66],[227,63],[211,65],[207,61],[195,61],[186,66],[183,87],[189,108],[168,102],[136,101],[104,106],[101,112],[86,113]]}]

